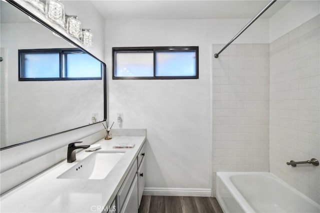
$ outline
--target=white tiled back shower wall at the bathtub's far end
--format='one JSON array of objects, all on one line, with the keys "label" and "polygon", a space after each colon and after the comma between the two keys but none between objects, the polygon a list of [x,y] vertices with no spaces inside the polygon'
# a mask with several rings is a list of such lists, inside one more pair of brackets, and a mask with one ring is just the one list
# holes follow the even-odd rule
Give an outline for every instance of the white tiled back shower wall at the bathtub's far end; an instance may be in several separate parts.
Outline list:
[{"label": "white tiled back shower wall at the bathtub's far end", "polygon": [[231,44],[212,58],[214,195],[217,171],[269,170],[269,44]]}]

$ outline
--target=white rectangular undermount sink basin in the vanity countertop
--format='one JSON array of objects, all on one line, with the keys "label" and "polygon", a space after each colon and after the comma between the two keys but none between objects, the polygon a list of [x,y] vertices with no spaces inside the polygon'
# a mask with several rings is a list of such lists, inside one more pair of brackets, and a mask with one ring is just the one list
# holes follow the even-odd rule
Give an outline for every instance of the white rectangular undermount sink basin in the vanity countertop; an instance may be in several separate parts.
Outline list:
[{"label": "white rectangular undermount sink basin in the vanity countertop", "polygon": [[124,152],[96,151],[57,178],[103,179],[121,159]]}]

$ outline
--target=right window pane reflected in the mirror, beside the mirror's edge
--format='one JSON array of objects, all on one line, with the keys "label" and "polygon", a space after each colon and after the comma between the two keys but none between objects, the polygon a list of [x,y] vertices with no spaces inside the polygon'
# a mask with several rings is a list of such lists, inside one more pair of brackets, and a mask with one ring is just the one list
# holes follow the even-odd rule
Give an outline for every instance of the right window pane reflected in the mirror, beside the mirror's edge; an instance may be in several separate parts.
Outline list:
[{"label": "right window pane reflected in the mirror, beside the mirror's edge", "polygon": [[64,77],[101,77],[101,63],[87,53],[66,53]]}]

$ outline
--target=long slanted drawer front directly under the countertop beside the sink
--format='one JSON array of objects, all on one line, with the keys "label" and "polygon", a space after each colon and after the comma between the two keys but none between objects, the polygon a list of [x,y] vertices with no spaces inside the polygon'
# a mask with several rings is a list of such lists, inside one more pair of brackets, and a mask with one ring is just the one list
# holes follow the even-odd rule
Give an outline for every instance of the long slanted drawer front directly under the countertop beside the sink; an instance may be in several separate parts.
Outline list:
[{"label": "long slanted drawer front directly under the countertop beside the sink", "polygon": [[137,170],[137,165],[136,163],[133,163],[133,165],[131,166],[129,173],[126,175],[117,195],[116,195],[116,206],[119,208],[117,210],[120,210],[123,202],[125,200],[125,196],[128,193],[129,189],[130,189],[130,185],[133,181],[133,178],[136,176],[136,170]]}]

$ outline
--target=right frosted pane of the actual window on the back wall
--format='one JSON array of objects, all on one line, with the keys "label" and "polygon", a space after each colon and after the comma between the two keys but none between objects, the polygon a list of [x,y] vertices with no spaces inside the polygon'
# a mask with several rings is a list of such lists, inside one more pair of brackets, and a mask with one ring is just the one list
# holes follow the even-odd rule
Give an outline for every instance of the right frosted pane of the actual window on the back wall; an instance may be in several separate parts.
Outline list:
[{"label": "right frosted pane of the actual window on the back wall", "polygon": [[195,76],[195,51],[156,51],[156,76]]}]

